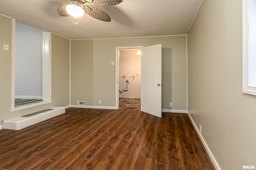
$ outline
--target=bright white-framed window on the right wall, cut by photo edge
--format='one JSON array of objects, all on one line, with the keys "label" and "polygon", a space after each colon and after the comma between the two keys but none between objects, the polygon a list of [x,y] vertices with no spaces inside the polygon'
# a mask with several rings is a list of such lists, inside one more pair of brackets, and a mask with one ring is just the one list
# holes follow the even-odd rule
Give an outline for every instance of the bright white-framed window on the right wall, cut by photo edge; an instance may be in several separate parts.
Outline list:
[{"label": "bright white-framed window on the right wall, cut by photo edge", "polygon": [[243,92],[256,96],[256,0],[243,0]]}]

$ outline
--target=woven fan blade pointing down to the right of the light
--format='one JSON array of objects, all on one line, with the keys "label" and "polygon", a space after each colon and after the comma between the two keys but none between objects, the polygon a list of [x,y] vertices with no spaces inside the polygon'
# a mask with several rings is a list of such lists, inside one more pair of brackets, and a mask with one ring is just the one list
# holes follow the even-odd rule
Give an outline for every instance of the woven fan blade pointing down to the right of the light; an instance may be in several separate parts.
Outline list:
[{"label": "woven fan blade pointing down to the right of the light", "polygon": [[110,22],[111,18],[110,16],[103,11],[102,9],[96,7],[96,6],[85,6],[84,11],[91,17],[96,18],[101,21]]}]

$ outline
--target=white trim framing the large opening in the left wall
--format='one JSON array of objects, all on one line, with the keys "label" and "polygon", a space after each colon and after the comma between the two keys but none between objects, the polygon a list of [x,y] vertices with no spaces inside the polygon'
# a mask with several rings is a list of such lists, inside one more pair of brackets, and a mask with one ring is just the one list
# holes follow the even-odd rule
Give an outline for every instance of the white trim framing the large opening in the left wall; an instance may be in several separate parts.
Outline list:
[{"label": "white trim framing the large opening in the left wall", "polygon": [[[12,21],[12,105],[11,111],[18,111],[22,109],[28,109],[30,107],[40,106],[51,103],[51,33],[43,32],[43,80],[42,80],[42,102],[28,104],[26,106],[15,107],[15,23]],[[40,30],[42,31],[42,30]]]}]

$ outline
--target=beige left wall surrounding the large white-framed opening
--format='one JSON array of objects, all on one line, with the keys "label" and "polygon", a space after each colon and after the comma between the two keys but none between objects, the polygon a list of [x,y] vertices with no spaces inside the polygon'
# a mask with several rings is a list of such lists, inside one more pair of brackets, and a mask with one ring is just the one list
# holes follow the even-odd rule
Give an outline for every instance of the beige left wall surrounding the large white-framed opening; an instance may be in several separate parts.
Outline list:
[{"label": "beige left wall surrounding the large white-framed opening", "polygon": [[9,51],[0,49],[0,124],[12,117],[69,105],[69,40],[52,34],[52,103],[11,112],[12,19],[0,15],[0,23],[0,46],[9,45]]}]

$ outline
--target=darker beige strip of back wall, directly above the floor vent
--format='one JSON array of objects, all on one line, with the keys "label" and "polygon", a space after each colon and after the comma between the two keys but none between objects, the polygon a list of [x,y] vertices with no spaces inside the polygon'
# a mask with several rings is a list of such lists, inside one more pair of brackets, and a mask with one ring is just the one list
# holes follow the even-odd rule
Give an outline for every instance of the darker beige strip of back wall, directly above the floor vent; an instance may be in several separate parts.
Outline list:
[{"label": "darker beige strip of back wall, directly above the floor vent", "polygon": [[[71,41],[71,96],[72,105],[76,101],[85,101],[85,105],[93,104],[93,41]],[[104,72],[102,73],[104,76]]]}]

